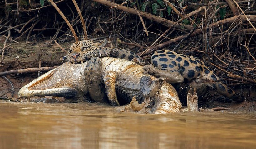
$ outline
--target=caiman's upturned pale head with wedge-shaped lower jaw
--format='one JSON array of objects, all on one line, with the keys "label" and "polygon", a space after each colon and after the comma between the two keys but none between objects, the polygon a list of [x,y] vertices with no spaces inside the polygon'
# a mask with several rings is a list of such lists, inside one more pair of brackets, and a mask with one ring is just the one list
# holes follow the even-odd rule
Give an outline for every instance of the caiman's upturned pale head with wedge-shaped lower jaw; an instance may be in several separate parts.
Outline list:
[{"label": "caiman's upturned pale head with wedge-shaped lower jaw", "polygon": [[82,97],[88,92],[84,79],[86,65],[87,62],[83,64],[66,62],[22,87],[18,97],[28,99],[33,96],[57,96],[68,99]]}]

